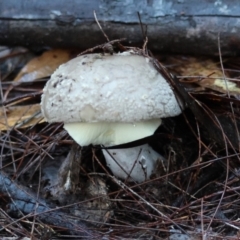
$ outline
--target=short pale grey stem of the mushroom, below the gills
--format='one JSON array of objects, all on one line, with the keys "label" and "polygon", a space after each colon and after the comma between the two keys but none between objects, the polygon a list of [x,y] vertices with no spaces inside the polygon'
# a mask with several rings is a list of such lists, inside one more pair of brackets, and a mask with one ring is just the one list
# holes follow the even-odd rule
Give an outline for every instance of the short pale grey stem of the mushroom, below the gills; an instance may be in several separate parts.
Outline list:
[{"label": "short pale grey stem of the mushroom, below the gills", "polygon": [[121,179],[143,182],[150,178],[163,157],[151,146],[144,144],[133,148],[103,149],[108,167]]}]

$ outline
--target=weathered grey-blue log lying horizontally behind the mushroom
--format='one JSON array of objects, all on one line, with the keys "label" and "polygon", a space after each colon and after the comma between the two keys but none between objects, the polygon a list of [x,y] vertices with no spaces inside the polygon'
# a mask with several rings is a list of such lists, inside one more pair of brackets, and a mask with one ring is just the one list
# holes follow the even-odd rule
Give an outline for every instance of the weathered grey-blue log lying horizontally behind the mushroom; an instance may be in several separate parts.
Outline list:
[{"label": "weathered grey-blue log lying horizontally behind the mushroom", "polygon": [[89,48],[108,37],[139,46],[137,12],[147,26],[149,48],[167,53],[223,55],[240,52],[238,0],[31,0],[0,1],[0,44]]}]

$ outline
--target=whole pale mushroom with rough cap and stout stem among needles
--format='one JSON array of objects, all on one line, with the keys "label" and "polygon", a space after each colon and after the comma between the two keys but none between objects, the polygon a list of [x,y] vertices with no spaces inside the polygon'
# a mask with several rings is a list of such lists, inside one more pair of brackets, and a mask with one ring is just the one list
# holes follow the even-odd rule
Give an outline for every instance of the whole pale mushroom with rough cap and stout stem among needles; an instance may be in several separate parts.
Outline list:
[{"label": "whole pale mushroom with rough cap and stout stem among needles", "polygon": [[[72,59],[44,87],[43,116],[64,122],[81,146],[109,147],[153,135],[161,118],[176,116],[181,108],[150,60],[131,51]],[[102,151],[114,175],[136,182],[149,179],[162,158],[148,144]]]}]

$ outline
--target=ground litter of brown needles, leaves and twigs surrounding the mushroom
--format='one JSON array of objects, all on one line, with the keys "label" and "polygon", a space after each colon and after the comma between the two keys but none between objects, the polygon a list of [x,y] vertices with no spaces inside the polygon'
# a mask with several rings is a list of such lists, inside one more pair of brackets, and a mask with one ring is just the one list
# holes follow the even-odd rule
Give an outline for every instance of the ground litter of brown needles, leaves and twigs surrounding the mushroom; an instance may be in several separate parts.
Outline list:
[{"label": "ground litter of brown needles, leaves and twigs surrounding the mushroom", "polygon": [[[1,58],[3,64],[11,61],[10,50]],[[237,239],[237,59],[226,59],[222,68],[219,59],[158,56],[164,65],[159,71],[188,108],[164,119],[161,135],[149,139],[167,159],[159,166],[161,174],[133,184],[111,175],[98,148],[70,150],[73,142],[62,124],[45,123],[39,114],[43,85],[60,64],[49,70],[49,52],[55,51],[59,58],[63,54],[62,61],[70,57],[64,50],[50,50],[42,55],[46,59],[32,60],[35,67],[30,62],[16,78],[7,68],[3,72],[1,236]],[[70,169],[61,165],[65,159]]]}]

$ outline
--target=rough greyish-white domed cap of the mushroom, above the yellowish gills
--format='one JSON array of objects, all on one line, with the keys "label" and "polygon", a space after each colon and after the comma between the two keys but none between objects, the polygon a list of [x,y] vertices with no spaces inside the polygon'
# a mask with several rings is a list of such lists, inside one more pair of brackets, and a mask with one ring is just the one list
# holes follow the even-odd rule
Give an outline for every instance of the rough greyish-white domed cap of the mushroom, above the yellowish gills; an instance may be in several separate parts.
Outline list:
[{"label": "rough greyish-white domed cap of the mushroom, above the yellowish gills", "polygon": [[131,52],[87,54],[61,65],[43,89],[48,122],[139,122],[181,113],[150,58]]}]

